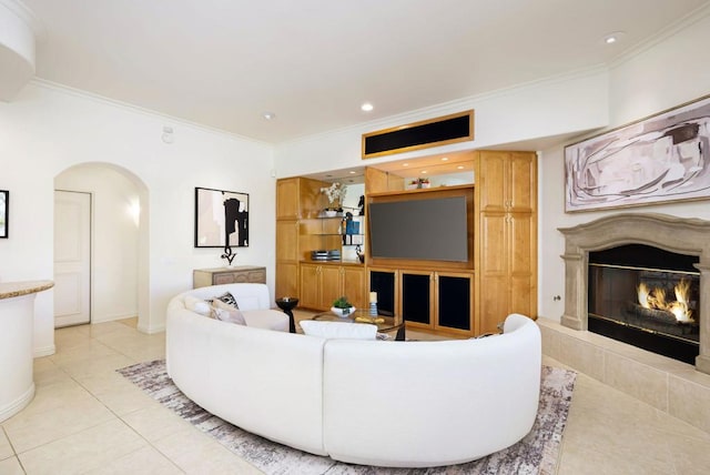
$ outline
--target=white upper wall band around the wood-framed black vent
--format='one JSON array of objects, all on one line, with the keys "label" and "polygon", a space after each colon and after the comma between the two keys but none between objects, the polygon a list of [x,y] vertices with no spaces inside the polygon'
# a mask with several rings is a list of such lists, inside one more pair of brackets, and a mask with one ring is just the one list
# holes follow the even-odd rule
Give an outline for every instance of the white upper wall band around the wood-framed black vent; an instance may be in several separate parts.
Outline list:
[{"label": "white upper wall band around the wood-framed black vent", "polygon": [[[597,129],[608,123],[608,75],[589,70],[476,98],[462,99],[383,121],[313,135],[276,146],[278,178],[296,176],[373,165],[393,160],[486,149],[535,138],[555,137]],[[363,133],[437,118],[464,110],[475,110],[475,140],[378,159],[361,159]]]}]

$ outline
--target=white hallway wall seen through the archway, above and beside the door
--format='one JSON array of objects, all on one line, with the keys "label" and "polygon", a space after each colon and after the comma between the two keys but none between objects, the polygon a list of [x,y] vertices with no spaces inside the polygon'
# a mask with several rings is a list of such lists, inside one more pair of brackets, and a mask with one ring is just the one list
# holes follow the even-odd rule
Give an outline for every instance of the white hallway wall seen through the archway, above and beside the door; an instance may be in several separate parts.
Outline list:
[{"label": "white hallway wall seen through the archway, above and beside the door", "polygon": [[140,191],[111,166],[72,166],[54,179],[58,190],[92,194],[91,322],[138,315]]}]

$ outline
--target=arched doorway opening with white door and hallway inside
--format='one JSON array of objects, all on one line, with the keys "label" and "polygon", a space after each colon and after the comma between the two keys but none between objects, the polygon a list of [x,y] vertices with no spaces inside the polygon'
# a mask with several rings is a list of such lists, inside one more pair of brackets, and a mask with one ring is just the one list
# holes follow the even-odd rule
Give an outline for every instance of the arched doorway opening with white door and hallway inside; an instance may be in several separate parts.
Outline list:
[{"label": "arched doorway opening with white door and hallway inside", "polygon": [[[78,292],[78,286],[62,286],[65,282],[75,283],[78,275],[63,274],[67,269],[62,261],[59,243],[73,242],[72,233],[78,231],[62,222],[63,208],[57,204],[54,210],[54,273],[55,326],[88,323],[80,319],[67,316],[74,311],[80,299],[89,305],[91,323],[108,322],[128,317],[148,319],[148,290],[142,289],[148,282],[148,189],[143,181],[126,169],[109,163],[82,163],[71,166],[54,178],[55,196],[89,195],[90,223],[88,235],[78,239],[90,243],[90,264],[82,272],[87,289]],[[80,196],[81,198],[81,196]],[[79,231],[81,232],[81,231]],[[65,236],[63,235],[67,234]],[[63,245],[67,247],[67,245]],[[73,253],[73,249],[70,253]],[[70,266],[71,267],[71,266]],[[74,271],[75,269],[71,269]],[[62,294],[64,292],[64,294]],[[81,294],[81,295],[79,295]]]}]

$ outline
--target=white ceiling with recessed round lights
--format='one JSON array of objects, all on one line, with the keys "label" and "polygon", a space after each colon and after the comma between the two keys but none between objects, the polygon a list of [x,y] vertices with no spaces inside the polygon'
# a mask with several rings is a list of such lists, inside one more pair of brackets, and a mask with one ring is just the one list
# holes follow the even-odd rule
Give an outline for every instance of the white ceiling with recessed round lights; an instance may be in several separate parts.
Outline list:
[{"label": "white ceiling with recessed round lights", "polygon": [[710,1],[24,3],[38,78],[277,143],[608,64]]}]

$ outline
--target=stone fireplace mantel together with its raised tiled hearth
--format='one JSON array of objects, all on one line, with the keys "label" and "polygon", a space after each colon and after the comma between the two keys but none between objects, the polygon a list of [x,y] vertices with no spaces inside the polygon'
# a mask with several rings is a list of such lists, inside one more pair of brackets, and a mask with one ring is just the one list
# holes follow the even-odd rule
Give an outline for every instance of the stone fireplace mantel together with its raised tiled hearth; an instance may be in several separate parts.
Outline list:
[{"label": "stone fireplace mantel together with its raised tiled hearth", "polygon": [[[710,222],[622,213],[559,231],[565,235],[565,313],[561,324],[538,319],[545,353],[710,433]],[[694,367],[587,331],[589,252],[633,243],[699,256],[700,355]]]}]

